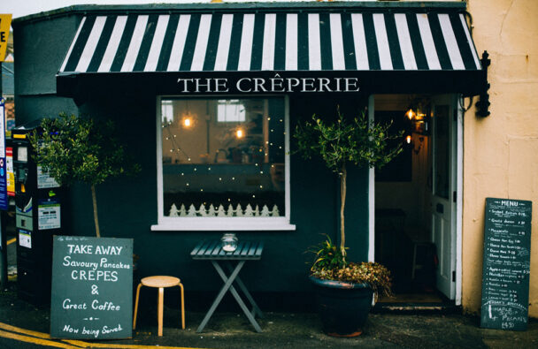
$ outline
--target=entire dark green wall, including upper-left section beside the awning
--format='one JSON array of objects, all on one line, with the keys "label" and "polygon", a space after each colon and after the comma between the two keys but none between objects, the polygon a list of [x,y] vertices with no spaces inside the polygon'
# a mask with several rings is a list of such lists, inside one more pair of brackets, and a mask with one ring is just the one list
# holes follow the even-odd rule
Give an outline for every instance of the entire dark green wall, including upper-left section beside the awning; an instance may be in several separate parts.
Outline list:
[{"label": "entire dark green wall, including upper-left section beside the awning", "polygon": [[[150,231],[157,224],[156,96],[130,86],[107,89],[88,85],[84,100],[54,95],[55,74],[76,31],[78,19],[61,17],[39,22],[19,22],[15,27],[17,123],[60,111],[111,118],[128,151],[142,165],[133,178],[113,179],[97,187],[99,219],[103,236],[135,239],[140,276],[168,274],[181,277],[188,291],[215,291],[220,281],[208,262],[193,262],[189,251],[200,239],[218,239],[220,232]],[[39,72],[36,72],[38,70]],[[119,78],[121,79],[121,78]],[[52,92],[52,93],[51,93]],[[290,128],[316,113],[335,116],[336,105],[344,115],[356,116],[364,106],[358,95],[293,95],[290,97]],[[295,142],[292,140],[292,149]],[[347,246],[350,260],[368,255],[368,171],[350,169],[346,205]],[[336,239],[339,229],[337,177],[319,160],[291,156],[291,223],[296,231],[245,231],[239,239],[262,239],[265,252],[259,262],[247,263],[242,278],[251,291],[305,292],[311,286],[307,273],[312,261],[304,251],[328,233]],[[73,186],[65,214],[73,235],[95,235],[88,186]],[[252,281],[250,281],[252,280]],[[254,281],[255,280],[255,281]]]}]

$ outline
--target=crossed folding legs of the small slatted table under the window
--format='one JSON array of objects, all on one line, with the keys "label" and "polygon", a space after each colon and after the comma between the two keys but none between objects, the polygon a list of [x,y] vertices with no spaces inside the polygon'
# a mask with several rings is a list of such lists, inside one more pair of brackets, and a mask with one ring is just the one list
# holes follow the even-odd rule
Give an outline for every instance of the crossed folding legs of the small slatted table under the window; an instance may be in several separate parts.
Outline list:
[{"label": "crossed folding legs of the small slatted table under the window", "polygon": [[[220,301],[226,294],[228,290],[232,293],[234,296],[234,299],[237,301],[237,304],[239,304],[239,307],[242,308],[243,313],[247,316],[252,326],[254,326],[254,329],[257,332],[261,332],[262,329],[259,327],[259,324],[256,322],[256,319],[254,316],[258,314],[260,317],[263,315],[259,307],[257,307],[256,302],[252,299],[252,296],[250,295],[250,292],[247,290],[245,285],[242,283],[241,279],[237,277],[239,275],[239,272],[242,269],[242,266],[244,265],[245,261],[240,261],[237,263],[235,268],[232,267],[232,265],[228,262],[227,268],[231,271],[231,274],[229,277],[227,277],[224,270],[220,267],[219,262],[217,261],[211,261],[211,264],[213,264],[213,267],[217,270],[217,273],[219,273],[219,276],[222,278],[222,281],[224,281],[224,285],[220,289],[219,294],[217,295],[217,298],[213,301],[213,304],[211,305],[209,311],[204,317],[204,320],[202,320],[202,323],[200,323],[200,326],[198,326],[198,329],[196,332],[201,332],[204,330],[205,325],[207,322],[209,322],[209,319],[211,318],[211,315],[215,312],[215,309],[219,306]],[[250,313],[247,306],[245,306],[244,302],[242,301],[241,297],[239,296],[239,293],[234,288],[234,281],[237,281],[237,285],[239,285],[239,288],[241,288],[242,292],[245,293],[245,296],[247,297],[247,300],[249,300],[250,305],[253,307],[252,313]]]}]

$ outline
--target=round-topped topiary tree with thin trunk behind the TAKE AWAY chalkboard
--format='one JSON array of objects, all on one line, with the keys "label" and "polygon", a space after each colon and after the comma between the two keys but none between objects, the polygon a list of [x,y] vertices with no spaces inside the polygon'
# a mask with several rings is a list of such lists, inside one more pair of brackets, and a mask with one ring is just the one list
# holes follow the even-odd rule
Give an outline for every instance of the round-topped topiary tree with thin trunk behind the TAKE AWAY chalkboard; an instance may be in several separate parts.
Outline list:
[{"label": "round-topped topiary tree with thin trunk behind the TAKE AWAY chalkboard", "polygon": [[60,185],[81,182],[90,186],[96,237],[100,238],[96,185],[140,171],[138,164],[127,161],[112,122],[61,113],[58,118],[43,118],[40,132],[32,133],[29,140],[35,148],[35,162]]}]

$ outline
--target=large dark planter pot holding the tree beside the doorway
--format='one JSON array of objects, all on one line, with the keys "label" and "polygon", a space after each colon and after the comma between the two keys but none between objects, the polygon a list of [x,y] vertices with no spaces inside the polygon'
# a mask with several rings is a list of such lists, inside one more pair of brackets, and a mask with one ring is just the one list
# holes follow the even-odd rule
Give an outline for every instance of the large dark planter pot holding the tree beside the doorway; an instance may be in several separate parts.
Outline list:
[{"label": "large dark planter pot holding the tree beside the doorway", "polygon": [[369,285],[310,277],[316,289],[323,331],[334,337],[357,337],[372,307]]}]

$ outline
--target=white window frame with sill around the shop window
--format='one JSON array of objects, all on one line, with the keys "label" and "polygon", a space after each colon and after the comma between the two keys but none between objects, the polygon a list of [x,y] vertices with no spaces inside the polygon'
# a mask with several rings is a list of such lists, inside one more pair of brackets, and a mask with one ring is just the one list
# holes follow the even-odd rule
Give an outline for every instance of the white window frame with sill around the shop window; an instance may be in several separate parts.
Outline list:
[{"label": "white window frame with sill around the shop window", "polygon": [[[290,224],[290,161],[289,161],[289,98],[288,95],[279,95],[284,98],[284,165],[285,165],[285,215],[279,217],[171,217],[165,216],[163,192],[163,138],[161,125],[161,101],[166,98],[177,98],[178,95],[159,95],[156,101],[156,128],[157,128],[157,209],[158,224],[151,225],[151,231],[295,231],[296,225]],[[198,97],[219,98],[222,95],[201,95]],[[250,96],[249,96],[250,97]],[[259,98],[274,97],[267,95]],[[241,99],[242,96],[227,95],[227,99]]]}]

